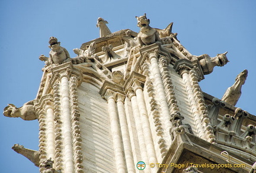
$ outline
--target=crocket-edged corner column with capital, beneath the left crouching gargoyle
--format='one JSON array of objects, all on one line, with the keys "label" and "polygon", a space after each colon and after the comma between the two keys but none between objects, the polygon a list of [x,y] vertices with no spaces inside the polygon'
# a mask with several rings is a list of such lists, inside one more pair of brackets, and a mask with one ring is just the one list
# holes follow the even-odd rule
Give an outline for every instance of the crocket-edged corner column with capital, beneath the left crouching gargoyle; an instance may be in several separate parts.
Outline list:
[{"label": "crocket-edged corner column with capital, beneath the left crouching gargoyle", "polygon": [[75,164],[77,154],[73,149],[76,145],[76,139],[73,139],[75,124],[72,123],[72,105],[75,94],[72,90],[80,83],[75,82],[76,86],[73,86],[71,79],[76,77],[81,81],[82,74],[73,68],[72,63],[53,67],[52,74],[50,83],[53,86],[55,102],[56,168],[63,172],[78,172],[78,164]]}]

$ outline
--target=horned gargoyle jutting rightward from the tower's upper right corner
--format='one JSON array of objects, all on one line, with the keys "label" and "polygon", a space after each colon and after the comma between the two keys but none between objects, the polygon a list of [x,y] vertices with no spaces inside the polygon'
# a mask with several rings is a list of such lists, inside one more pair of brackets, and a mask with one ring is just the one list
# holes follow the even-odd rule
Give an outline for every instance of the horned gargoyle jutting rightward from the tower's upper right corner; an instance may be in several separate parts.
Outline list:
[{"label": "horned gargoyle jutting rightward from the tower's upper right corner", "polygon": [[199,60],[200,66],[203,70],[204,74],[210,74],[213,71],[213,68],[215,66],[225,66],[226,63],[228,63],[228,58],[226,57],[226,54],[228,52],[225,52],[223,54],[217,54],[216,57],[211,58],[207,54],[203,54],[201,56],[193,57],[192,60],[195,60],[196,58]]}]

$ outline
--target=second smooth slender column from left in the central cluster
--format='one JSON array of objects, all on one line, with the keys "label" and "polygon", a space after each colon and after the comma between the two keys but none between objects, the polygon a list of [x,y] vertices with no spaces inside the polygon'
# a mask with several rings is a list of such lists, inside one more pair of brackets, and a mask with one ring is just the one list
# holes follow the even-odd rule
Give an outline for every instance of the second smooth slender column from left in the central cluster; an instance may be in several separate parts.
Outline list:
[{"label": "second smooth slender column from left in the central cluster", "polygon": [[121,136],[123,138],[124,156],[126,158],[127,172],[135,172],[136,163],[133,161],[132,146],[130,143],[129,129],[127,126],[126,113],[124,110],[124,98],[121,93],[117,93],[117,110],[119,113]]}]

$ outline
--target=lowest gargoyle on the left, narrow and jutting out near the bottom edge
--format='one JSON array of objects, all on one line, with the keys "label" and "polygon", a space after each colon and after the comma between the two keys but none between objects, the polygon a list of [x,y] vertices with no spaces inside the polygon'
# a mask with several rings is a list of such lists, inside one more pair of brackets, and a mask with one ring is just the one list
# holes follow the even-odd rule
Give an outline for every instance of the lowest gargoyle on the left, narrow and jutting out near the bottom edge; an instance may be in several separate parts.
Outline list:
[{"label": "lowest gargoyle on the left, narrow and jutting out near the bottom edge", "polygon": [[24,148],[23,145],[19,145],[19,144],[14,144],[14,146],[12,146],[12,149],[15,152],[17,152],[18,154],[21,154],[21,155],[25,156],[26,158],[28,158],[31,162],[33,162],[34,165],[36,165],[36,167],[39,167],[40,159],[39,159],[38,151]]}]

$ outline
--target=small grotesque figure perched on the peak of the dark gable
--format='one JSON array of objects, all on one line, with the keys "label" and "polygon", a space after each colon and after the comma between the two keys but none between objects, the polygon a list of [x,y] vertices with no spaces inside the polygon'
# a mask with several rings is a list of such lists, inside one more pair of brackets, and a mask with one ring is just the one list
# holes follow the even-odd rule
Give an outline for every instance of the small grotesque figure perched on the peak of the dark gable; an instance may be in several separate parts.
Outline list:
[{"label": "small grotesque figure perched on the peak of the dark gable", "polygon": [[191,126],[189,124],[184,124],[182,120],[184,116],[180,114],[180,112],[176,111],[172,113],[170,122],[172,123],[172,128],[170,129],[171,139],[175,138],[175,134],[184,134],[185,132],[193,134]]}]

